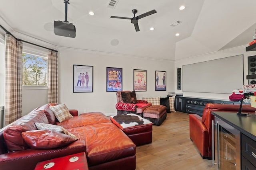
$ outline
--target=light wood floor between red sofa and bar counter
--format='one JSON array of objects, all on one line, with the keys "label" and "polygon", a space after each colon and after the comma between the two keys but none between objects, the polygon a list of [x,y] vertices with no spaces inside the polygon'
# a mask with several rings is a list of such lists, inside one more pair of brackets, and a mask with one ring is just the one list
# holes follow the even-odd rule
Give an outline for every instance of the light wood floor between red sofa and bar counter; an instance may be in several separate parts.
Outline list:
[{"label": "light wood floor between red sofa and bar counter", "polygon": [[189,137],[189,115],[167,113],[160,126],[153,125],[152,143],[136,148],[136,170],[216,170],[203,159]]}]

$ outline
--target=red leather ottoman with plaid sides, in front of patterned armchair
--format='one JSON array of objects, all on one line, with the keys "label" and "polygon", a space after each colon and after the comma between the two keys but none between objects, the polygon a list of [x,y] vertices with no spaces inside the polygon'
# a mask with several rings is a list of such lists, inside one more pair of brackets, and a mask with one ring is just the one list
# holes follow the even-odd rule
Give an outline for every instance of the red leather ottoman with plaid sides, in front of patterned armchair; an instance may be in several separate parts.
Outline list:
[{"label": "red leather ottoman with plaid sides, in front of patterned armchair", "polygon": [[152,105],[143,111],[143,117],[159,126],[166,119],[166,106]]}]

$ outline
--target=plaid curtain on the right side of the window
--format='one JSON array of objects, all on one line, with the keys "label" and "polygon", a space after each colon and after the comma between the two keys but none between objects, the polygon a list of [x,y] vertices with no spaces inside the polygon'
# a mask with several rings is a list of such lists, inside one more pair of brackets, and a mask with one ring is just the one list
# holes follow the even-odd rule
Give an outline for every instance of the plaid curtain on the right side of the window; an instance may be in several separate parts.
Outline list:
[{"label": "plaid curtain on the right side of the window", "polygon": [[48,103],[58,103],[58,56],[48,52]]}]

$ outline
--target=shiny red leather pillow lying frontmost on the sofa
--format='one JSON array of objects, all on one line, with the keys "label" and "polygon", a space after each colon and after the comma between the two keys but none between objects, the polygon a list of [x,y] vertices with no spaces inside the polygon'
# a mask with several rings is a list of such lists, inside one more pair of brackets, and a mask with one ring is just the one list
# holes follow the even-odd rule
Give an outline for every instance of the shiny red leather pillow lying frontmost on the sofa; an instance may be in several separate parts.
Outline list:
[{"label": "shiny red leather pillow lying frontmost on the sofa", "polygon": [[69,135],[49,130],[26,131],[21,134],[22,138],[31,149],[64,147],[76,141],[76,139]]}]

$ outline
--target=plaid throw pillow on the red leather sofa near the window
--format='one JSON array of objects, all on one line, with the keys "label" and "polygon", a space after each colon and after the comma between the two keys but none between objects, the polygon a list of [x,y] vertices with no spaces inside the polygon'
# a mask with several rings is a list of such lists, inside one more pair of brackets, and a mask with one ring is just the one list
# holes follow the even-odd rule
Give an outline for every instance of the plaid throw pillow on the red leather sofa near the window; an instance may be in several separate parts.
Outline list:
[{"label": "plaid throw pillow on the red leather sofa near the window", "polygon": [[62,122],[66,119],[70,119],[73,117],[72,114],[69,113],[68,108],[65,104],[50,106],[50,109],[52,109],[54,115],[56,116],[59,122]]}]

